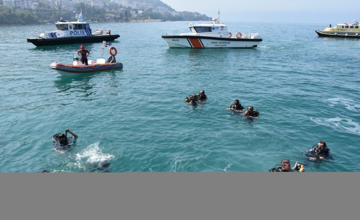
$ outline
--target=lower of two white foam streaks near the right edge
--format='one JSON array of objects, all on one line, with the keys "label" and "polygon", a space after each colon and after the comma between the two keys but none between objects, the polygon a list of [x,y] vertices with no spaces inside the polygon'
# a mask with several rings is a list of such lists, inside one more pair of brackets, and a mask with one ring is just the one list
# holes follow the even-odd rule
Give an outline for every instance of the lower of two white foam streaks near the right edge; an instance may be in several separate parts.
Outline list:
[{"label": "lower of two white foam streaks near the right edge", "polygon": [[310,118],[310,119],[319,125],[324,125],[343,132],[350,132],[353,134],[360,135],[360,125],[350,118],[335,117],[335,118],[325,118],[325,119],[319,119],[319,118],[316,119]]}]

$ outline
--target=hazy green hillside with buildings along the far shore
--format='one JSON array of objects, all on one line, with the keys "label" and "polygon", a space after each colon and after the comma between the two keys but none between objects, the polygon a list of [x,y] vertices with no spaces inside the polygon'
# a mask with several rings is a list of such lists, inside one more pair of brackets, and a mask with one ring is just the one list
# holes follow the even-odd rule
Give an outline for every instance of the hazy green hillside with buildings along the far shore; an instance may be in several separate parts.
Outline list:
[{"label": "hazy green hillside with buildings along the far shore", "polygon": [[[84,10],[86,20],[91,21],[150,21],[150,20],[211,20],[198,12],[178,12],[160,0],[102,0],[102,5],[92,6],[91,0],[82,0],[74,5],[48,5],[50,0],[32,0],[35,9],[28,6],[2,5],[0,0],[0,25],[30,25],[54,23],[60,18],[74,20],[75,12]],[[25,8],[24,8],[25,7]]]}]

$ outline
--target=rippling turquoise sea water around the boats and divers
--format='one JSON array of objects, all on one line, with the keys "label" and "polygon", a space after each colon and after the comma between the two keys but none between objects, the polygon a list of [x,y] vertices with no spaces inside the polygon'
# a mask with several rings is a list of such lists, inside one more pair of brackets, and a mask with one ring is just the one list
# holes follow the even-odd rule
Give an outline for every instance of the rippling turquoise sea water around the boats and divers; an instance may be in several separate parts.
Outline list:
[{"label": "rippling turquoise sea water around the boats and divers", "polygon": [[[321,23],[224,21],[263,41],[168,48],[161,35],[188,32],[187,23],[91,23],[120,34],[124,67],[81,76],[49,67],[72,63],[80,44],[27,42],[54,25],[2,26],[0,172],[267,172],[285,158],[306,172],[360,171],[360,40],[320,38]],[[100,58],[101,43],[84,45]],[[207,102],[184,102],[201,89]],[[235,99],[260,117],[226,110]],[[60,154],[52,137],[67,128],[79,138]],[[333,161],[302,155],[319,140]]]}]

